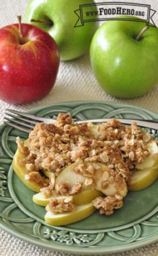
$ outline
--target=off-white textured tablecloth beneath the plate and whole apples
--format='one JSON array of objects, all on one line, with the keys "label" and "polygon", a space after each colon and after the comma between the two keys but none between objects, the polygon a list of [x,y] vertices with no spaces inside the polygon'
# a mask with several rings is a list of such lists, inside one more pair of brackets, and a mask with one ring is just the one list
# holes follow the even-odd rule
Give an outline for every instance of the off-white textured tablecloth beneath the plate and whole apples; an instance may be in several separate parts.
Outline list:
[{"label": "off-white textured tablecloth beneath the plate and whole apples", "polygon": [[[53,0],[52,0],[53,1]],[[97,0],[96,2],[101,2]],[[109,2],[112,2],[111,0]],[[120,1],[120,2],[123,2]],[[126,1],[128,2],[128,1]],[[129,1],[130,2],[130,1]],[[135,3],[151,4],[152,8],[157,10],[157,0],[133,0]],[[1,0],[0,5],[0,26],[16,23],[16,15],[22,14],[24,17],[28,0]],[[158,15],[157,15],[158,16]],[[157,19],[158,20],[158,19]],[[45,106],[54,102],[72,101],[72,100],[105,100],[115,102],[125,102],[133,104],[152,111],[158,112],[158,86],[150,93],[134,100],[117,100],[106,94],[97,84],[95,77],[91,71],[88,54],[77,60],[61,63],[59,74],[55,86],[50,94],[43,100],[33,102],[32,104],[22,106],[12,106],[6,102],[0,101],[1,117],[0,123],[3,121],[4,111],[6,108],[16,110],[28,110],[36,106]],[[61,256],[60,254],[40,249],[29,243],[23,242],[18,238],[11,237],[6,232],[0,231],[0,256]],[[113,254],[112,254],[113,255]],[[115,254],[116,256],[157,256],[158,243],[146,246],[139,250],[131,252]]]}]

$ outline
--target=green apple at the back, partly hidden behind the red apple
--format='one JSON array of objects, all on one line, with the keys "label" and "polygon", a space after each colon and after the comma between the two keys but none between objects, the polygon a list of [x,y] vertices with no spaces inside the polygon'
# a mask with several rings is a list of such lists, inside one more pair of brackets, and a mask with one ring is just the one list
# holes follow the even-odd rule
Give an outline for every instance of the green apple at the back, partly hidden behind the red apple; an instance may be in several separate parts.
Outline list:
[{"label": "green apple at the back, partly hidden behind the red apple", "polygon": [[[31,0],[29,1],[25,22],[39,26],[49,32],[59,47],[61,60],[72,60],[82,56],[91,44],[97,22],[84,23],[74,27],[78,16],[74,13],[79,5],[94,3],[93,0]],[[94,9],[93,9],[94,10]],[[53,25],[45,25],[36,20],[52,20]]]}]

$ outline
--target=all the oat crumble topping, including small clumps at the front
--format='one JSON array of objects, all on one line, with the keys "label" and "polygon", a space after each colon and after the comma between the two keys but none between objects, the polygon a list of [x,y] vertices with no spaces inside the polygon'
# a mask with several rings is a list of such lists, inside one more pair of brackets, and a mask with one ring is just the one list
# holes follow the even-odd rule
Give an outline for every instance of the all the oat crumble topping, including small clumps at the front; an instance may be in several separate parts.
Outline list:
[{"label": "all the oat crumble topping, including small clumps at the front", "polygon": [[[93,129],[97,131],[97,138]],[[110,215],[114,209],[122,207],[123,197],[118,194],[122,180],[127,181],[135,164],[142,163],[150,154],[147,145],[151,140],[152,136],[136,123],[126,126],[112,119],[97,126],[92,123],[76,125],[69,114],[59,114],[55,123],[37,123],[29,134],[27,146],[19,137],[16,142],[25,155],[21,164],[28,171],[26,179],[43,184],[41,192],[45,197],[52,195],[55,177],[71,163],[74,163],[74,172],[85,177],[84,185],[87,187],[95,184],[99,163],[108,167],[109,171],[102,176],[101,186],[108,188],[115,181],[117,192],[114,196],[97,197],[93,205],[100,209],[101,214]],[[52,172],[52,176],[48,180],[39,171]],[[68,201],[50,200],[46,209],[54,213],[75,210],[72,195],[80,193],[82,185],[81,182],[72,186],[66,182],[58,183],[57,194],[67,196]]]}]

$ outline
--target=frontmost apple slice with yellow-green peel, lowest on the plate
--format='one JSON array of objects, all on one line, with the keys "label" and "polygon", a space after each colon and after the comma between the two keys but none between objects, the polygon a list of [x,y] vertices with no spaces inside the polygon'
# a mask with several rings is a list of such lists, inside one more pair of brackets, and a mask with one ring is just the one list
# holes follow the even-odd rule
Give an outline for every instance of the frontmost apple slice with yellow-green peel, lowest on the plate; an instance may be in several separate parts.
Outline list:
[{"label": "frontmost apple slice with yellow-green peel, lowest on the plate", "polygon": [[77,207],[75,212],[55,214],[49,211],[45,214],[45,222],[53,226],[68,225],[87,218],[95,211],[96,208],[93,207],[92,203]]}]

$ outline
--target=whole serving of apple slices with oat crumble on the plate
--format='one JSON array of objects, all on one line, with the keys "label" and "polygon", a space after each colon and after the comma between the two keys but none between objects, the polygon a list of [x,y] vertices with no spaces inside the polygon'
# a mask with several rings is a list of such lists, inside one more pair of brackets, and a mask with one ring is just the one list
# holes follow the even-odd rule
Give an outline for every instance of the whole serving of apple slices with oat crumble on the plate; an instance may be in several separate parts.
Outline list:
[{"label": "whole serving of apple slices with oat crumble on the plate", "polygon": [[96,209],[109,216],[129,190],[144,189],[158,177],[157,142],[136,123],[76,125],[69,114],[59,114],[55,123],[37,123],[17,143],[14,171],[39,192],[33,201],[46,206],[50,225],[82,220]]}]

